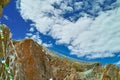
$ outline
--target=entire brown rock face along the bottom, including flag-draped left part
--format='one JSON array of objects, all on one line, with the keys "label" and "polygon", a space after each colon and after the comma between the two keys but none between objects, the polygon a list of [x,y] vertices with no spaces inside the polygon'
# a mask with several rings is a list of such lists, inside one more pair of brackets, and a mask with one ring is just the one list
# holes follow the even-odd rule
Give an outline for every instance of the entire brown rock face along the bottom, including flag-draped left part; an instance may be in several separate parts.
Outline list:
[{"label": "entire brown rock face along the bottom, including flag-draped left part", "polygon": [[120,80],[116,65],[60,57],[32,39],[11,40],[10,30],[0,26],[0,80]]}]

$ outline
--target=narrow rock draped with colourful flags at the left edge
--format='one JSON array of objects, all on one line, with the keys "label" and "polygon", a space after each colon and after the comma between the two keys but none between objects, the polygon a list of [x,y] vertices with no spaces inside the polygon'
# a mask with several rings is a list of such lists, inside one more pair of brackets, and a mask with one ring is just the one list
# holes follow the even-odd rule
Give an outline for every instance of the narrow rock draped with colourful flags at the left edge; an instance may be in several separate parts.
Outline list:
[{"label": "narrow rock draped with colourful flags at the left edge", "polygon": [[17,54],[11,40],[9,28],[0,24],[0,80],[10,80],[16,76]]}]

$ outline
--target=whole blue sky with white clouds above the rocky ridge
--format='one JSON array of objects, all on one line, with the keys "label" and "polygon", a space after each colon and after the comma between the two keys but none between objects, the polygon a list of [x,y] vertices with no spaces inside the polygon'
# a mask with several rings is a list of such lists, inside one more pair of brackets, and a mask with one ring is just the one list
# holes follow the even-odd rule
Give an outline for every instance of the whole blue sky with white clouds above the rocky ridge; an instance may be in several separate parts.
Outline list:
[{"label": "whole blue sky with white clouds above the rocky ridge", "polygon": [[11,0],[1,23],[58,54],[120,65],[119,0]]}]

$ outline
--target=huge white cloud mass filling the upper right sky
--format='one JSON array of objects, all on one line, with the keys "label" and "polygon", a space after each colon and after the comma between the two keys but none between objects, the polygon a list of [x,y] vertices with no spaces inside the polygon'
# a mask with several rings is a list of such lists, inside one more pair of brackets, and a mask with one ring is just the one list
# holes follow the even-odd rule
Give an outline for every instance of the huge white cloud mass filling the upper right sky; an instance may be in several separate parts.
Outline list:
[{"label": "huge white cloud mass filling the upper right sky", "polygon": [[[100,7],[105,0],[96,0],[92,8],[86,6],[88,2],[72,5],[71,1],[20,0],[17,4],[23,19],[32,20],[36,29],[56,39],[56,44],[65,44],[71,54],[89,59],[115,56],[120,51],[120,8],[115,5],[119,1],[106,7],[117,8],[107,11]],[[79,14],[68,16],[74,22],[65,18],[64,14],[82,9]],[[93,18],[95,13],[98,16]],[[76,17],[79,18],[75,20]]]}]

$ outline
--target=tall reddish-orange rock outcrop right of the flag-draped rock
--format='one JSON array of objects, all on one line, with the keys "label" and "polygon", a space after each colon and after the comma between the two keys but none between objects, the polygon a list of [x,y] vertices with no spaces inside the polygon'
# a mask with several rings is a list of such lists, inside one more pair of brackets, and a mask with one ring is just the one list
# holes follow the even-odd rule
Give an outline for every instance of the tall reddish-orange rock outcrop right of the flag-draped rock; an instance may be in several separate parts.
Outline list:
[{"label": "tall reddish-orange rock outcrop right of the flag-draped rock", "polygon": [[42,46],[26,39],[15,43],[15,48],[20,64],[17,80],[49,80],[52,77],[50,60],[42,52]]}]

